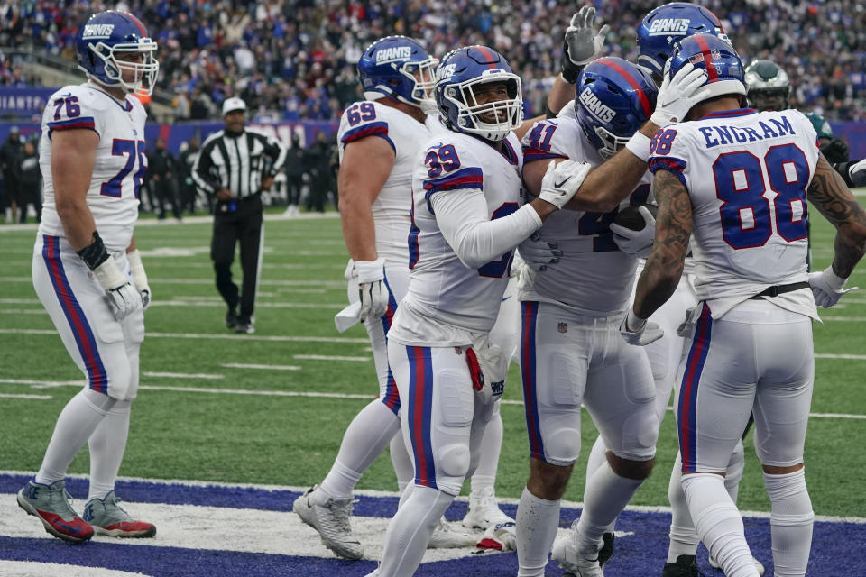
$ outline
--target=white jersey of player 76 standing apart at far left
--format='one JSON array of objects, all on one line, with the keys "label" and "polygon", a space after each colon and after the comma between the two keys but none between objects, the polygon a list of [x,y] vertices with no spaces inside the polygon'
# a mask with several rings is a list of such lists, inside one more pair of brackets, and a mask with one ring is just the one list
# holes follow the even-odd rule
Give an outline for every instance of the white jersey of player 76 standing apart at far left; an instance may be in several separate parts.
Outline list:
[{"label": "white jersey of player 76 standing apart at far left", "polygon": [[88,188],[88,208],[109,251],[123,251],[129,246],[138,218],[139,190],[147,170],[146,117],[138,98],[126,96],[125,104],[121,104],[90,83],[62,87],[51,95],[42,113],[39,142],[39,163],[45,182],[41,234],[66,236],[54,202],[51,134],[86,128],[99,135],[97,160]]}]

